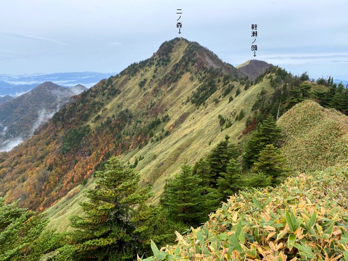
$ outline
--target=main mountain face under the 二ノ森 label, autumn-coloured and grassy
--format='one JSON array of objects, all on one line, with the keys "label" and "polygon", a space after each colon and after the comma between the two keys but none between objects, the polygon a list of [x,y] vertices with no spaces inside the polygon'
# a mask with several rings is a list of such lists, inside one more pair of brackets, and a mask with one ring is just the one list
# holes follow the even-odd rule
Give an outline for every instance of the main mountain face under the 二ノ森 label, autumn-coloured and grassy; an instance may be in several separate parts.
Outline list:
[{"label": "main mountain face under the \u4e8c\u30ce\u68ee label, autumn-coloured and grassy", "polygon": [[[196,161],[225,134],[237,142],[257,93],[269,87],[264,81],[243,91],[244,78],[197,43],[166,42],[150,59],[73,97],[31,139],[0,154],[0,191],[8,200],[22,198],[25,207],[45,209],[110,155],[130,164],[142,156],[137,170],[144,167],[142,185],[153,184],[156,199],[185,158]],[[238,87],[241,94],[228,103]],[[246,117],[234,121],[242,108]],[[223,132],[219,113],[233,122]]]}]

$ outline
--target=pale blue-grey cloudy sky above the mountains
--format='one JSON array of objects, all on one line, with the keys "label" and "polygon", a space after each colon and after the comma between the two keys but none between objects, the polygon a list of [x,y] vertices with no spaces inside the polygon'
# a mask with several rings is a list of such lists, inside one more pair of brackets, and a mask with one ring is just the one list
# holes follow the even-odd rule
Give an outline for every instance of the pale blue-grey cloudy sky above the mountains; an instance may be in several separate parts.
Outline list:
[{"label": "pale blue-grey cloudy sky above the mountains", "polygon": [[[181,36],[234,66],[258,59],[315,79],[348,80],[347,0],[0,0],[0,6],[0,74],[119,73]],[[258,37],[251,37],[252,24]]]}]

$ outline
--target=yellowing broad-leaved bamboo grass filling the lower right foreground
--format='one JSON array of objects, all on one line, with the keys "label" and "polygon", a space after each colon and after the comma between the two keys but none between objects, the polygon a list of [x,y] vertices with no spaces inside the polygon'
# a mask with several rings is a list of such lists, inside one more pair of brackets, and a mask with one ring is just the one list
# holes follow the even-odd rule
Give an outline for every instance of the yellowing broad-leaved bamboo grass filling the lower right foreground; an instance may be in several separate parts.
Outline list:
[{"label": "yellowing broad-leaved bamboo grass filling the lower right foreground", "polygon": [[347,188],[348,166],[336,166],[244,191],[152,260],[346,260]]}]

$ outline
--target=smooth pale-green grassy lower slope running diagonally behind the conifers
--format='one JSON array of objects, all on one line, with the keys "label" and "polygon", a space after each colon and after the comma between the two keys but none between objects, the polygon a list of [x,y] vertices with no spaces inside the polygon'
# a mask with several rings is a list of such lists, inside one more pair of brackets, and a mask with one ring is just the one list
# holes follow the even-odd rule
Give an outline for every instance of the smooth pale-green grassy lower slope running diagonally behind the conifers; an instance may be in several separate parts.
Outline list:
[{"label": "smooth pale-green grassy lower slope running diagonally behind the conifers", "polygon": [[[170,120],[166,124],[166,130],[169,130],[170,126],[174,126],[171,134],[159,142],[149,143],[141,150],[135,149],[124,156],[123,160],[129,160],[131,163],[134,162],[134,159],[144,156],[144,160],[139,161],[136,170],[140,171],[141,185],[153,185],[154,196],[151,198],[152,202],[159,199],[166,180],[180,170],[180,165],[185,159],[188,159],[190,164],[195,163],[219,141],[223,140],[226,134],[231,136],[232,142],[238,143],[238,136],[245,129],[247,116],[241,121],[234,121],[235,116],[233,115],[236,115],[236,112],[241,109],[246,111],[246,115],[250,115],[250,108],[262,87],[263,89],[269,88],[268,91],[271,91],[269,82],[264,81],[247,91],[242,91],[230,103],[228,103],[228,97],[225,97],[218,104],[210,102],[205,108],[197,110],[192,104],[173,107],[168,110],[168,113],[169,115],[178,115],[177,119],[179,120]],[[231,94],[234,94],[234,92]],[[219,93],[214,94],[214,96],[218,97]],[[218,114],[231,118],[233,125],[221,132]],[[183,117],[186,117],[186,119],[179,123]],[[163,132],[160,132],[160,134],[163,135]],[[210,141],[211,144],[209,145]],[[79,185],[69,192],[68,195],[71,196],[65,196],[50,207],[47,210],[51,217],[48,228],[56,228],[59,232],[69,230],[69,217],[79,213],[80,206],[77,203],[85,200],[83,196],[84,189],[91,187],[93,187],[93,183],[89,183],[89,181],[86,186]]]}]

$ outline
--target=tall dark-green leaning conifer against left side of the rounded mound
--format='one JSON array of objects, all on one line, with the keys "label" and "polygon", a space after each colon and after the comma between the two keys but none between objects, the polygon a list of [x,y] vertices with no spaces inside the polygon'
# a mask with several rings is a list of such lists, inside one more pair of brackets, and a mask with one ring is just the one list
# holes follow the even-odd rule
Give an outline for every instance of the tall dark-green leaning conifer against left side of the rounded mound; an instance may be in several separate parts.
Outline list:
[{"label": "tall dark-green leaning conifer against left side of the rounded mound", "polygon": [[261,150],[268,144],[277,146],[282,139],[281,129],[276,125],[272,116],[266,118],[253,133],[243,154],[247,167],[257,162]]}]

